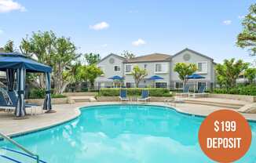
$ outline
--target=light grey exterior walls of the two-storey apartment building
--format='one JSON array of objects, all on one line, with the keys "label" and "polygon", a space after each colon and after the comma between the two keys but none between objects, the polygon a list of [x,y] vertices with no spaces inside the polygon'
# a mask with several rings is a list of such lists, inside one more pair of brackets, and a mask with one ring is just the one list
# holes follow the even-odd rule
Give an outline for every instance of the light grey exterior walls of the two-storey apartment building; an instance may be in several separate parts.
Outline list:
[{"label": "light grey exterior walls of the two-storey apartment building", "polygon": [[[189,57],[185,57],[189,56]],[[111,63],[110,60],[115,60],[114,63]],[[156,80],[155,82],[166,82],[167,87],[170,87],[170,89],[175,89],[175,82],[181,82],[181,80],[178,78],[177,73],[174,72],[174,66],[175,63],[197,63],[198,62],[206,62],[207,63],[207,72],[202,73],[203,79],[199,80],[190,80],[188,83],[195,84],[197,82],[206,82],[207,87],[210,88],[212,86],[212,83],[215,82],[215,71],[214,71],[214,62],[212,59],[208,58],[207,56],[199,55],[198,53],[193,53],[191,50],[184,50],[181,51],[181,53],[178,53],[177,55],[173,56],[170,61],[160,61],[160,62],[138,62],[138,63],[126,63],[125,60],[122,58],[119,58],[115,55],[110,55],[104,60],[101,60],[100,63],[97,64],[99,67],[104,67],[104,76],[101,76],[96,79],[97,86],[101,87],[112,87],[113,82],[112,80],[108,79],[112,76],[119,75],[120,77],[125,77],[124,85],[126,85],[126,82],[132,83],[134,85],[134,79],[131,74],[126,74],[125,68],[126,64],[130,64],[133,67],[139,66],[140,68],[146,68],[148,75],[145,77],[145,80],[142,80],[140,82],[140,86],[154,86],[153,81],[149,81],[146,78],[150,78],[153,75],[158,75],[159,77],[162,77],[161,80]],[[155,63],[166,63],[168,65],[166,73],[155,73]],[[120,65],[121,70],[119,72],[114,71],[114,66]],[[104,84],[102,84],[104,82]]]}]

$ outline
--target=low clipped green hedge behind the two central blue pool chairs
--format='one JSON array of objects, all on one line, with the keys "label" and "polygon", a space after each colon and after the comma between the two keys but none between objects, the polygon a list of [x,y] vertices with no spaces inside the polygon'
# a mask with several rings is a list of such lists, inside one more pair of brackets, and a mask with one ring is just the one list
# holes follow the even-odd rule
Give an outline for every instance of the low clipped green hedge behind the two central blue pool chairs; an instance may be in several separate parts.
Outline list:
[{"label": "low clipped green hedge behind the two central blue pool chairs", "polygon": [[[127,89],[127,96],[141,96],[143,89]],[[172,96],[169,89],[147,89],[149,96]],[[120,89],[101,89],[99,96],[119,96]]]}]

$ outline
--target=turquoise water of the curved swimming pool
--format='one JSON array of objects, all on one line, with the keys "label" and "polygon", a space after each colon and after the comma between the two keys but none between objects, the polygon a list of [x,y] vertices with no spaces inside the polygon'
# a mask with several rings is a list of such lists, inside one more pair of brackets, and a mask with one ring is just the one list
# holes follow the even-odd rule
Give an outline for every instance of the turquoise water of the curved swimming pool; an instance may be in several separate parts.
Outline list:
[{"label": "turquoise water of the curved swimming pool", "polygon": [[[15,140],[52,163],[213,162],[199,147],[202,121],[166,107],[105,105],[87,107],[73,121]],[[237,162],[256,162],[256,123],[250,125],[251,148]],[[15,149],[5,142],[0,147]]]}]

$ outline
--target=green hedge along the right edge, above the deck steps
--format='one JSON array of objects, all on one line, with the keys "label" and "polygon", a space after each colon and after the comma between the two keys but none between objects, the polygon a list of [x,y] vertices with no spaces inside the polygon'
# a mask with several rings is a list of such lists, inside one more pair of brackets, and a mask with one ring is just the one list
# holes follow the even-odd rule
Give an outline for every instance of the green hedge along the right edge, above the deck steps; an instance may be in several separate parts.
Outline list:
[{"label": "green hedge along the right edge, above the deck steps", "polygon": [[214,89],[214,93],[256,96],[256,85],[240,85],[231,89]]}]

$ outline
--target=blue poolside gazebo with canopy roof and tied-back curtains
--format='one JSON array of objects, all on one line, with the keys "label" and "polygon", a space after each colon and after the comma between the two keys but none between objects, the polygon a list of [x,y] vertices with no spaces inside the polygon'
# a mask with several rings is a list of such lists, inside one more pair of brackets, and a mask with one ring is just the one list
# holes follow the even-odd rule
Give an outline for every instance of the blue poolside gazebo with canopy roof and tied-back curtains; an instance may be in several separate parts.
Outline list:
[{"label": "blue poolside gazebo with canopy roof and tied-back curtains", "polygon": [[38,63],[20,53],[0,53],[0,71],[6,72],[7,85],[10,92],[14,91],[16,74],[16,90],[18,94],[18,101],[14,112],[16,117],[24,117],[26,115],[24,94],[27,72],[46,74],[46,99],[43,103],[43,110],[48,110],[48,112],[52,110],[50,96],[51,67]]}]

